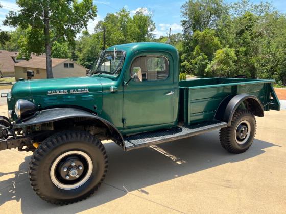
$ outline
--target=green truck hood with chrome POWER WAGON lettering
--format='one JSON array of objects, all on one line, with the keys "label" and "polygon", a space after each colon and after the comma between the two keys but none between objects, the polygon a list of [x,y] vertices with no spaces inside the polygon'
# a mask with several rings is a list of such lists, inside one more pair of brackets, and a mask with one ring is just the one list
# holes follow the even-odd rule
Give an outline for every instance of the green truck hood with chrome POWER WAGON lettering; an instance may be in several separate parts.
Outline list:
[{"label": "green truck hood with chrome POWER WAGON lettering", "polygon": [[102,92],[102,85],[97,78],[34,79],[32,81],[19,81],[16,83],[12,88],[12,97],[23,98],[93,92]]}]

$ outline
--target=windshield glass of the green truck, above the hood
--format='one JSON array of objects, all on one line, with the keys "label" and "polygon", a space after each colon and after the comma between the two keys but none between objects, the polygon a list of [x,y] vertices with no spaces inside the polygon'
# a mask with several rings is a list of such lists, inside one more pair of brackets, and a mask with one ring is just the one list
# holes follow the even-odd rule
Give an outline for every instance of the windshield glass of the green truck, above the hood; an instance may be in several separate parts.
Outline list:
[{"label": "windshield glass of the green truck, above the hood", "polygon": [[123,65],[124,52],[122,51],[106,51],[99,58],[96,66],[96,72],[119,74]]}]

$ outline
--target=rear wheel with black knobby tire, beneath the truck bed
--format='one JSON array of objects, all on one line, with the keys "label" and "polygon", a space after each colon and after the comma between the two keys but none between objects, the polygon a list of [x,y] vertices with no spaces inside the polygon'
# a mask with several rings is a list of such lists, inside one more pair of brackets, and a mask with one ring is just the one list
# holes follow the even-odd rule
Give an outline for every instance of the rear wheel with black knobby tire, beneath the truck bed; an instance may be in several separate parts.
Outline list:
[{"label": "rear wheel with black knobby tire, beneath the truck bed", "polygon": [[222,147],[230,153],[240,154],[249,149],[256,132],[256,120],[249,110],[237,110],[231,120],[231,126],[221,128]]}]

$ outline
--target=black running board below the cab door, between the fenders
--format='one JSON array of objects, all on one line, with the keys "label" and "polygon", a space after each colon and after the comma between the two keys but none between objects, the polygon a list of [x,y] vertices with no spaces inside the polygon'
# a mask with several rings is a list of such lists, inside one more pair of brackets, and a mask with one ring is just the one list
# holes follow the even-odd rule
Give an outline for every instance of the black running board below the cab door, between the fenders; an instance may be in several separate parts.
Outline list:
[{"label": "black running board below the cab door, between the fenders", "polygon": [[201,133],[227,127],[226,122],[213,120],[190,126],[177,126],[171,129],[149,131],[137,135],[127,136],[124,139],[126,151],[138,149],[145,146],[165,143]]}]

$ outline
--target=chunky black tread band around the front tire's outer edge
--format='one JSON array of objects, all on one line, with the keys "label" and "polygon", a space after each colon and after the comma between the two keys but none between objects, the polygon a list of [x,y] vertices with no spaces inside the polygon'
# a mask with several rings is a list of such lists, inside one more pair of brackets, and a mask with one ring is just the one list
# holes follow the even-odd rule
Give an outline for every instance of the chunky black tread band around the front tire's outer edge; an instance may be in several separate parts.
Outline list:
[{"label": "chunky black tread band around the front tire's outer edge", "polygon": [[[53,200],[50,198],[46,198],[38,189],[38,180],[35,175],[35,171],[37,170],[37,167],[39,165],[39,162],[41,161],[41,158],[46,155],[48,152],[53,150],[55,147],[63,144],[66,140],[72,140],[72,139],[78,139],[78,140],[83,140],[87,141],[89,143],[92,143],[94,146],[98,147],[99,150],[102,152],[102,155],[104,156],[104,173],[102,175],[102,178],[100,182],[93,188],[91,189],[88,194],[83,195],[81,198],[74,199],[74,200],[69,200],[69,201],[59,201],[59,200]],[[29,179],[30,179],[30,184],[34,190],[34,192],[43,200],[46,202],[49,202],[51,204],[55,205],[67,205],[71,203],[76,203],[82,200],[87,199],[90,197],[95,191],[98,190],[99,186],[101,185],[101,182],[103,182],[106,173],[107,173],[107,168],[108,168],[108,157],[107,153],[105,150],[105,147],[102,145],[102,143],[95,137],[90,135],[86,131],[61,131],[56,133],[53,136],[50,136],[49,138],[45,139],[39,147],[35,150],[32,158],[30,159],[30,167],[29,167]]]}]

